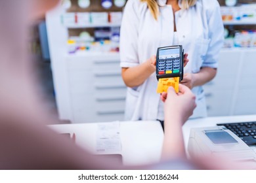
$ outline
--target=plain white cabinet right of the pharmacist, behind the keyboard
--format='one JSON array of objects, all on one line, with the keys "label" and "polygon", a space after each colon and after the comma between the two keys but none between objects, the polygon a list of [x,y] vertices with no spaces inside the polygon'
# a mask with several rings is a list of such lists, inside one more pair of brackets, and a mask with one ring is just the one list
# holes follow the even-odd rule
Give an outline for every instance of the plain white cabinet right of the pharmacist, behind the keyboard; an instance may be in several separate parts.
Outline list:
[{"label": "plain white cabinet right of the pharmacist, behind the keyboard", "polygon": [[208,116],[256,114],[256,49],[223,49],[217,76],[203,86]]}]

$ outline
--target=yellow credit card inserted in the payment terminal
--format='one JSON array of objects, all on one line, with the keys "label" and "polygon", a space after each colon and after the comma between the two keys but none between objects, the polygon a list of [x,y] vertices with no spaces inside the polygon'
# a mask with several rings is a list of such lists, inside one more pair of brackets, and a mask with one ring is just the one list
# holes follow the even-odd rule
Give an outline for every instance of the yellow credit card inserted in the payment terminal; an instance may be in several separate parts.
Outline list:
[{"label": "yellow credit card inserted in the payment terminal", "polygon": [[168,88],[172,86],[176,93],[179,93],[179,77],[175,78],[160,78],[158,80],[157,93],[167,92]]}]

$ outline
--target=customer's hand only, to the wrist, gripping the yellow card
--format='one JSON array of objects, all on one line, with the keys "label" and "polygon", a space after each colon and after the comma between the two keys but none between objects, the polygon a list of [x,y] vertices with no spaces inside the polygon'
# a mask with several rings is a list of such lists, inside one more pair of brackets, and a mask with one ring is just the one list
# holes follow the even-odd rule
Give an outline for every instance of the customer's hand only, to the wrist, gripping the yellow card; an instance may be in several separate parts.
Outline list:
[{"label": "customer's hand only, to the wrist, gripping the yellow card", "polygon": [[188,120],[196,108],[196,96],[191,90],[179,84],[179,93],[175,93],[173,87],[169,87],[168,93],[161,93],[161,100],[165,102],[165,120],[179,121],[182,124]]}]

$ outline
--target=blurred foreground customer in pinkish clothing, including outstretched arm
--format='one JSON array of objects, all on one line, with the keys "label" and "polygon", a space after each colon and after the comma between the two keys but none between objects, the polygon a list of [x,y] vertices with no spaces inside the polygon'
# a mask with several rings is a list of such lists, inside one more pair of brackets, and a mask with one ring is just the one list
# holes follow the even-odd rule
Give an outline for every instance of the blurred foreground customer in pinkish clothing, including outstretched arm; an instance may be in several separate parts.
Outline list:
[{"label": "blurred foreground customer in pinkish clothing, including outstretched arm", "polygon": [[[0,0],[0,169],[230,169],[209,160],[201,164],[185,158],[182,124],[196,107],[194,94],[180,85],[161,95],[165,101],[165,137],[161,163],[121,167],[94,158],[47,127],[35,90],[28,54],[32,22],[59,3],[57,0]],[[174,102],[175,101],[175,102]],[[179,105],[175,105],[179,103]],[[200,162],[200,161],[197,161]],[[232,167],[234,168],[234,167]]]}]

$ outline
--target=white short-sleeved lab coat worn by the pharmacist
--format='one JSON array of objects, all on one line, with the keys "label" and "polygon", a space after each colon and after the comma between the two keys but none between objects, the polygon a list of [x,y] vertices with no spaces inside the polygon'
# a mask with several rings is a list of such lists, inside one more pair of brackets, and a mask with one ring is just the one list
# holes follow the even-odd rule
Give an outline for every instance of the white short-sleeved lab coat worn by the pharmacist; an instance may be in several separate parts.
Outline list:
[{"label": "white short-sleeved lab coat worn by the pharmacist", "polygon": [[[166,0],[158,0],[158,4],[160,16],[156,21],[146,3],[127,1],[120,34],[121,67],[135,67],[156,55],[158,47],[173,44],[172,7],[165,5]],[[184,67],[184,73],[198,73],[201,67],[217,68],[224,39],[217,0],[198,0],[194,7],[175,12],[175,22],[179,44],[190,60]],[[160,95],[156,93],[157,85],[156,73],[153,73],[139,87],[128,88],[125,120],[158,118]],[[192,92],[196,95],[197,104],[192,118],[207,116],[202,86],[193,88]]]}]

